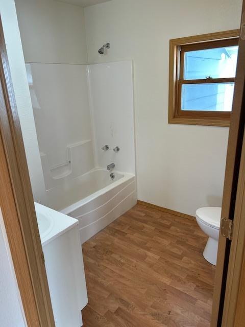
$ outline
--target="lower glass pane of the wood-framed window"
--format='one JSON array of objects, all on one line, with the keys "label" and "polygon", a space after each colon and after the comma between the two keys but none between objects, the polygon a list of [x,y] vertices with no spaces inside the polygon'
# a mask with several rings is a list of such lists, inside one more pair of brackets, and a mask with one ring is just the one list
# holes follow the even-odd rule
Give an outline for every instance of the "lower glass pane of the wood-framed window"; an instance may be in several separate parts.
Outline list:
[{"label": "lower glass pane of the wood-framed window", "polygon": [[231,111],[234,82],[183,84],[181,110]]}]

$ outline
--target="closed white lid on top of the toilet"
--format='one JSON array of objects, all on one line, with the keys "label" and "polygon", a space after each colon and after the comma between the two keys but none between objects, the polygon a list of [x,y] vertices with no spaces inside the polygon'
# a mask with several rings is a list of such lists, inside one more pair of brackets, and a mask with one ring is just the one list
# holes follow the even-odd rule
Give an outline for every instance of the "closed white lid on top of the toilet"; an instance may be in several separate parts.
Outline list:
[{"label": "closed white lid on top of the toilet", "polygon": [[220,207],[199,208],[195,212],[195,217],[197,217],[197,219],[200,219],[204,224],[219,229],[220,219],[221,219],[221,208]]}]

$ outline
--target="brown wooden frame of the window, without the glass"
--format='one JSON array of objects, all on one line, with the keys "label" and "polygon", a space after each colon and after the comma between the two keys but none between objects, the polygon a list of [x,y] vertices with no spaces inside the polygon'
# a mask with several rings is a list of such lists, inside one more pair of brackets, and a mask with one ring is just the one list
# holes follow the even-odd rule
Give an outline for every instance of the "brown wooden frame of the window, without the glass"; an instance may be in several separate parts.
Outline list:
[{"label": "brown wooden frame of the window, without the glass", "polygon": [[[183,84],[234,82],[235,78],[184,80],[184,53],[238,44],[239,30],[202,34],[169,41],[168,123],[188,125],[230,126],[231,112],[181,110]],[[230,44],[229,44],[230,45]],[[181,51],[180,51],[181,50]]]}]

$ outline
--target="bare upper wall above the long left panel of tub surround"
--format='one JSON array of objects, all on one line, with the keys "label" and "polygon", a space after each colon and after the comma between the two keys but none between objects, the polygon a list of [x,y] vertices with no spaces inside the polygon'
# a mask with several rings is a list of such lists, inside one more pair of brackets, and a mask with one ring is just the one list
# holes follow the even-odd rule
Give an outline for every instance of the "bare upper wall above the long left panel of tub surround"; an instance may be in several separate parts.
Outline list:
[{"label": "bare upper wall above the long left panel of tub surround", "polygon": [[84,11],[55,0],[15,0],[26,62],[87,63]]}]

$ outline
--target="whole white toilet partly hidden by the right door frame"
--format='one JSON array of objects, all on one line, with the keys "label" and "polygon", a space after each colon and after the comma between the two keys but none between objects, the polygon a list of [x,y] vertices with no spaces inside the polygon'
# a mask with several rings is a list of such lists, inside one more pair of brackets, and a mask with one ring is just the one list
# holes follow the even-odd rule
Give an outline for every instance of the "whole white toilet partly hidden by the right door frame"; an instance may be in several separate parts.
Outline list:
[{"label": "whole white toilet partly hidden by the right door frame", "polygon": [[199,208],[195,212],[195,219],[202,231],[209,237],[203,256],[208,262],[216,266],[221,208]]}]

